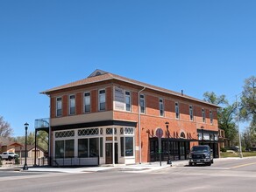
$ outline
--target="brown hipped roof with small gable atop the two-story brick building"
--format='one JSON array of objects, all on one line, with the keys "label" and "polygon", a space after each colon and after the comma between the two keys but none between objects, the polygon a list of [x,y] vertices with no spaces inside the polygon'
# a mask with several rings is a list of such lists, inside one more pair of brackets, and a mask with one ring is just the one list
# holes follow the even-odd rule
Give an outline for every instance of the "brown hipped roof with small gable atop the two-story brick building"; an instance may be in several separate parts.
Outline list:
[{"label": "brown hipped roof with small gable atop the two-story brick building", "polygon": [[110,72],[104,72],[104,71],[98,70],[98,69],[95,72],[92,72],[89,75],[89,77],[86,78],[86,79],[77,80],[75,82],[68,83],[68,84],[63,85],[63,86],[57,86],[57,87],[54,87],[52,89],[48,89],[46,91],[43,91],[41,93],[51,94],[55,91],[65,90],[65,89],[72,88],[72,87],[75,87],[75,86],[85,86],[85,85],[89,85],[89,84],[93,84],[93,83],[107,81],[107,80],[110,80],[110,79],[116,79],[116,80],[126,82],[126,83],[129,83],[129,84],[135,85],[135,86],[141,86],[141,87],[149,89],[149,90],[158,91],[158,92],[161,92],[161,93],[172,94],[174,96],[182,97],[182,98],[185,98],[185,99],[196,100],[198,102],[202,102],[202,103],[205,103],[205,104],[210,105],[210,106],[219,107],[217,105],[208,103],[208,102],[203,101],[201,99],[196,99],[196,98],[190,97],[190,96],[185,95],[183,93],[177,93],[177,92],[165,89],[165,88],[161,88],[159,86],[149,85],[149,84],[140,82],[138,80],[124,78],[124,77],[119,76],[117,74],[113,74],[113,73],[110,73]]}]

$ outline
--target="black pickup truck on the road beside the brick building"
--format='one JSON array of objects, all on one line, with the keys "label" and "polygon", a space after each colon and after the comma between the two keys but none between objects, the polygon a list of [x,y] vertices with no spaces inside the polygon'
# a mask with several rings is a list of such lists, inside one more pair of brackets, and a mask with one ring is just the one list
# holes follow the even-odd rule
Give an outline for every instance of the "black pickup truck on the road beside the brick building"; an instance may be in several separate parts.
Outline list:
[{"label": "black pickup truck on the road beside the brick building", "polygon": [[206,165],[211,165],[213,163],[212,150],[207,145],[194,146],[191,148],[190,153],[188,154],[188,163],[189,166],[197,163],[203,163]]}]

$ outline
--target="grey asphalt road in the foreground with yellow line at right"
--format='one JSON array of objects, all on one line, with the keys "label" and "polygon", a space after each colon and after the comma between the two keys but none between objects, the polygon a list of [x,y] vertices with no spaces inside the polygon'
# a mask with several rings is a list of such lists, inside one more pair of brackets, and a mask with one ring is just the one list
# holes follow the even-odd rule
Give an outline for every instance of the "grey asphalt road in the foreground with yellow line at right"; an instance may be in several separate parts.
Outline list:
[{"label": "grey asphalt road in the foreground with yellow line at right", "polygon": [[[7,175],[4,175],[7,174]],[[256,190],[256,158],[177,166],[152,172],[0,172],[1,191],[243,191]]]}]

